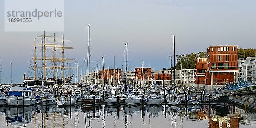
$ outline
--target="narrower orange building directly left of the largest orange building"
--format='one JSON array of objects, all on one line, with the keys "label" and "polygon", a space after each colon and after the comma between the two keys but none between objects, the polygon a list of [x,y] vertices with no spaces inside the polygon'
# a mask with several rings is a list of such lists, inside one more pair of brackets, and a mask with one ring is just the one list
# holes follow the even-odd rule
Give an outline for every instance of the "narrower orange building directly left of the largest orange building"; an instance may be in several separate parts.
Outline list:
[{"label": "narrower orange building directly left of the largest orange building", "polygon": [[195,60],[195,84],[205,84],[205,71],[207,70],[207,58]]}]

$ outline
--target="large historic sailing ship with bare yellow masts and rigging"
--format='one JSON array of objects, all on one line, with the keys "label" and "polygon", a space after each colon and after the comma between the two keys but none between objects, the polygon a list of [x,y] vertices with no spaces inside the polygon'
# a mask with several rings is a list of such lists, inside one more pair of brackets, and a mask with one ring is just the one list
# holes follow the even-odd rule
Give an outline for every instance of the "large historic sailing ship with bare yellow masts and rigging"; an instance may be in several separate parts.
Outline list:
[{"label": "large historic sailing ship with bare yellow masts and rigging", "polygon": [[65,49],[72,49],[66,47],[64,43],[68,40],[62,38],[55,38],[53,36],[44,35],[35,38],[34,55],[30,62],[30,70],[28,76],[24,74],[24,81],[29,86],[41,85],[64,85],[69,84],[72,80],[73,74],[70,73],[70,67],[67,64],[74,63],[74,59],[65,58]]}]

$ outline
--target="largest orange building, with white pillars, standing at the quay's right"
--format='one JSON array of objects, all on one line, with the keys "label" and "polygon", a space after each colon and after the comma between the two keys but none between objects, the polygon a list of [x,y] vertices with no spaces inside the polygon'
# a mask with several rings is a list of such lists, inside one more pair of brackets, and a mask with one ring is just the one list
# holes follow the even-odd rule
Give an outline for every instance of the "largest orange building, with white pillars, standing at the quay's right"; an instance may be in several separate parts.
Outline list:
[{"label": "largest orange building, with white pillars, standing at the quay's right", "polygon": [[[206,85],[222,87],[237,81],[237,46],[210,46],[207,49]],[[208,88],[209,89],[209,88]]]}]

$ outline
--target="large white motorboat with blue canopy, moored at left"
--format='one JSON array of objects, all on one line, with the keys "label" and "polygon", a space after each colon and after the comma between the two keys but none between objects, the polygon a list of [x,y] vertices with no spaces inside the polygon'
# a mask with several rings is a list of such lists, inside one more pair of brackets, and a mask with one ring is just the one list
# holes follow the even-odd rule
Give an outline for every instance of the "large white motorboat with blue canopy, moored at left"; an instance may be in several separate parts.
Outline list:
[{"label": "large white motorboat with blue canopy, moored at left", "polygon": [[[24,97],[24,101],[23,101]],[[13,86],[10,88],[6,102],[9,106],[29,106],[40,104],[40,99],[35,96],[35,91],[29,87]]]}]

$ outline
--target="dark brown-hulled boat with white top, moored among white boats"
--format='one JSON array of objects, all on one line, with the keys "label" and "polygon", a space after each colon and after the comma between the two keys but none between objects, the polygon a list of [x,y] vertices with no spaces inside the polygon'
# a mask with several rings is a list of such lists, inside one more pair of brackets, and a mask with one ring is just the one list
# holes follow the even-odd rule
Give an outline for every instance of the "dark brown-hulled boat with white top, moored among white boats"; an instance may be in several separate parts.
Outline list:
[{"label": "dark brown-hulled boat with white top, moored among white boats", "polygon": [[82,99],[82,105],[86,107],[99,106],[101,102],[101,96],[89,95]]}]

